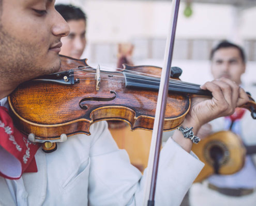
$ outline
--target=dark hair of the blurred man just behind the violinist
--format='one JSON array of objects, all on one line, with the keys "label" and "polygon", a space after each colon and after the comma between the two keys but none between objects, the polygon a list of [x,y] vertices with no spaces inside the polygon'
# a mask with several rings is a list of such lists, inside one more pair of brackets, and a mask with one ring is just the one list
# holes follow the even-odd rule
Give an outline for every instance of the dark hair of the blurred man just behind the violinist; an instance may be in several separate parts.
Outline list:
[{"label": "dark hair of the blurred man just behind the violinist", "polygon": [[65,21],[70,20],[84,20],[86,21],[87,17],[86,14],[78,7],[75,7],[71,4],[65,5],[65,4],[56,4],[55,9],[57,12],[59,12]]}]

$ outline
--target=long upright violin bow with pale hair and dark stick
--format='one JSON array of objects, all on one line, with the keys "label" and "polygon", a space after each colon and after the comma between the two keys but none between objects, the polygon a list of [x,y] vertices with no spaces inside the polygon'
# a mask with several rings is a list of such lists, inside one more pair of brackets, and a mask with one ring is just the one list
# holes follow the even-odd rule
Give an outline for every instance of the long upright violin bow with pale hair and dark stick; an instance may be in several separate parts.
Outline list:
[{"label": "long upright violin bow with pale hair and dark stick", "polygon": [[167,43],[165,46],[164,61],[161,73],[160,87],[157,98],[157,108],[155,115],[155,122],[152,133],[152,141],[150,145],[150,152],[147,165],[146,183],[144,190],[144,203],[143,205],[154,205],[155,204],[155,190],[156,190],[156,179],[159,163],[159,155],[162,142],[162,131],[163,122],[169,87],[169,79],[171,74],[171,64],[173,56],[173,46],[175,39],[175,31],[178,19],[178,9],[180,0],[172,1],[171,10],[171,23],[169,29],[169,35],[167,37]]}]

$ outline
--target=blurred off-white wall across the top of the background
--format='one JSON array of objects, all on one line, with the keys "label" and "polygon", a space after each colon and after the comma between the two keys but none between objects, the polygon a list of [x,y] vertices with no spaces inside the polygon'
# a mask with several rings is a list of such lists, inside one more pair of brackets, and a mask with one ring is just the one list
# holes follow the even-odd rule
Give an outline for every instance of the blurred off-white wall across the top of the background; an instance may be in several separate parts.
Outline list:
[{"label": "blurred off-white wall across the top of the background", "polygon": [[[168,1],[57,0],[82,5],[88,15],[88,37],[91,42],[128,41],[132,37],[165,37],[170,18]],[[190,18],[183,15],[180,4],[177,38],[230,38],[234,31],[236,11],[229,5],[192,4]],[[241,12],[243,37],[256,37],[253,20],[255,8]]]}]

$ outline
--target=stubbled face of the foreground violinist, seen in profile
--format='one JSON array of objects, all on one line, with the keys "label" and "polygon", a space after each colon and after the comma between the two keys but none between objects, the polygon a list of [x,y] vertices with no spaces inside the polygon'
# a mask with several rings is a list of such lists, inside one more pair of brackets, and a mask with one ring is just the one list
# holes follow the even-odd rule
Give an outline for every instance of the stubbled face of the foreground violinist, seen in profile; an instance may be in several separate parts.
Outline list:
[{"label": "stubbled face of the foreground violinist, seen in profile", "polygon": [[57,72],[61,37],[69,27],[54,0],[3,0],[2,6],[1,72],[14,84]]}]

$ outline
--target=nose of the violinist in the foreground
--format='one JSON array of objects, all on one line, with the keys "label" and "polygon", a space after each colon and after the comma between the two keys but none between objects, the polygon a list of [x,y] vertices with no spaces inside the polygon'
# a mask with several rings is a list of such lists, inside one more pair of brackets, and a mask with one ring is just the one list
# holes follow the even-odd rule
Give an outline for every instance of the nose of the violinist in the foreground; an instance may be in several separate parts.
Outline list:
[{"label": "nose of the violinist in the foreground", "polygon": [[55,18],[53,18],[52,33],[57,37],[65,37],[69,34],[70,28],[68,23],[63,19],[62,15],[55,10]]}]

